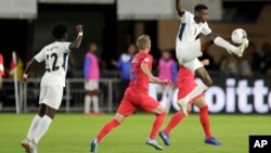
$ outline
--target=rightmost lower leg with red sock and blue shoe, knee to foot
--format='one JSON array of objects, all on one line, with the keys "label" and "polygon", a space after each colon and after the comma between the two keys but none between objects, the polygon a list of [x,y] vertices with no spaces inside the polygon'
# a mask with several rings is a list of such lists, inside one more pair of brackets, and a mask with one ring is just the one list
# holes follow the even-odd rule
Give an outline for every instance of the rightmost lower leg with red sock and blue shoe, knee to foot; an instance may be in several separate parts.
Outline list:
[{"label": "rightmost lower leg with red sock and blue shoe, knee to foot", "polygon": [[205,133],[204,142],[212,145],[222,145],[222,143],[216,140],[216,138],[211,135],[208,105],[206,104],[204,97],[195,99],[194,104],[199,109],[199,122]]}]

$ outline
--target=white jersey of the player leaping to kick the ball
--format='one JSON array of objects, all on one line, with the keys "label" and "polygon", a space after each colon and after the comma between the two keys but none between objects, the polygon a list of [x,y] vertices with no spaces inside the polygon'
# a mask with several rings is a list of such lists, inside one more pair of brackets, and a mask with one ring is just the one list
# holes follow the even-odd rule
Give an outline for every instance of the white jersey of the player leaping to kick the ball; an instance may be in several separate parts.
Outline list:
[{"label": "white jersey of the player leaping to kick the ball", "polygon": [[184,11],[184,14],[180,17],[181,24],[177,35],[177,43],[195,41],[199,33],[204,35],[211,33],[207,22],[196,23],[194,17],[194,14]]}]

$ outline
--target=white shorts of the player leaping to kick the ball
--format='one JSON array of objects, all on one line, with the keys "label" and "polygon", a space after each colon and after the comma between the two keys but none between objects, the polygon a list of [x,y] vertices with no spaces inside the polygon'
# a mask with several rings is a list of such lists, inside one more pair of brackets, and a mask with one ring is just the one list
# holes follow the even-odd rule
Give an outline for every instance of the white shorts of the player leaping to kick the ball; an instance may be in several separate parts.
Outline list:
[{"label": "white shorts of the player leaping to kick the ball", "polygon": [[176,55],[178,62],[193,73],[204,66],[197,59],[203,55],[199,39],[188,43],[177,42]]}]

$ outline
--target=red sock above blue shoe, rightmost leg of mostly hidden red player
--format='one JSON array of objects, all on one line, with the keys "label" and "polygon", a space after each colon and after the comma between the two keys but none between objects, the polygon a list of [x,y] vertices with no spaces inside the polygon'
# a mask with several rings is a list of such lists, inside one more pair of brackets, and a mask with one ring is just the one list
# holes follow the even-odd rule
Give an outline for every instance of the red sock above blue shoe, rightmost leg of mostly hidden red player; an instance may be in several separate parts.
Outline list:
[{"label": "red sock above blue shoe, rightmost leg of mostly hidden red player", "polygon": [[210,132],[210,123],[209,123],[209,117],[208,117],[208,105],[205,105],[199,109],[199,120],[201,124],[204,128],[204,133],[205,137],[211,138],[211,132]]}]

